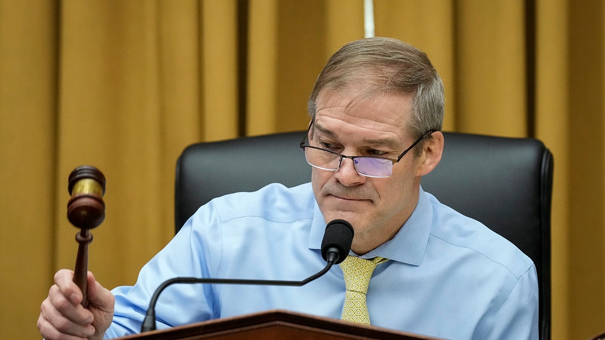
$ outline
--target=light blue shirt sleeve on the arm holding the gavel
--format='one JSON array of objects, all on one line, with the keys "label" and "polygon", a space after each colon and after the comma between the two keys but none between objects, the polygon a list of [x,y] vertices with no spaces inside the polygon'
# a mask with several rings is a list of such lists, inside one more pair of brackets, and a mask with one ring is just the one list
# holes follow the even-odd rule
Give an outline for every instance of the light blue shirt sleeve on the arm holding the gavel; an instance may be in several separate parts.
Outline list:
[{"label": "light blue shirt sleeve on the arm holding the gavel", "polygon": [[[134,286],[112,290],[116,297],[114,319],[105,339],[140,333],[151,296],[160,284],[174,277],[211,277],[220,262],[222,237],[214,205],[201,207],[178,234],[143,266]],[[203,238],[200,235],[204,235]],[[183,309],[183,306],[187,306]],[[214,292],[207,284],[173,284],[157,300],[157,329],[191,324],[214,318]]]}]

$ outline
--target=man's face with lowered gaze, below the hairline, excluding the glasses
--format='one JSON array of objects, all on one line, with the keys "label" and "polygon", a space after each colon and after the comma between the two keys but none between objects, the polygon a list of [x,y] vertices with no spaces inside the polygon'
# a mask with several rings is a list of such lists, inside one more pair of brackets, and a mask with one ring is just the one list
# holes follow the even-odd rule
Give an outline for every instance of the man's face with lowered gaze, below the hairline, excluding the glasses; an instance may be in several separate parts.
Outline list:
[{"label": "man's face with lowered gaze, below the hairline, excluding the glasses", "polygon": [[[323,90],[316,100],[310,143],[344,155],[397,159],[414,142],[404,128],[412,97],[358,97],[358,93]],[[343,159],[336,171],[312,169],[313,194],[325,222],[336,218],[350,222],[356,253],[361,255],[390,240],[416,208],[424,152],[416,158],[413,153],[396,163],[387,178],[358,174],[350,159]]]}]

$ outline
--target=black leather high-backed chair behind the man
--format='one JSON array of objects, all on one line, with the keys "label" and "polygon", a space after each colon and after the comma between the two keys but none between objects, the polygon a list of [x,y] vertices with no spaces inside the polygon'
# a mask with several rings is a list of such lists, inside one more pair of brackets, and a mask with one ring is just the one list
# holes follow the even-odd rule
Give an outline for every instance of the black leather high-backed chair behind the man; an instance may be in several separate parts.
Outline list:
[{"label": "black leather high-backed chair behind the man", "polygon": [[[442,203],[507,238],[535,263],[540,339],[551,330],[551,152],[535,139],[445,132],[439,165],[422,187]],[[183,151],[175,181],[175,228],[214,197],[273,182],[310,181],[304,131],[197,143]]]}]

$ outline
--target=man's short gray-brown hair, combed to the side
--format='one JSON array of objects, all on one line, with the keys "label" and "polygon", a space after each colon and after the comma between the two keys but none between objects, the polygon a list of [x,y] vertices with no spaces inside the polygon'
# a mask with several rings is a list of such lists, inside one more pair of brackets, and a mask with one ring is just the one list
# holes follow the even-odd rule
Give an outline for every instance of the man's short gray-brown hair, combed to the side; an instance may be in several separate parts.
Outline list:
[{"label": "man's short gray-brown hair, combed to the side", "polygon": [[[415,139],[443,126],[443,82],[427,54],[392,38],[366,38],[349,42],[330,57],[309,97],[309,115],[315,119],[319,93],[344,90],[351,85],[363,90],[361,97],[375,94],[411,94],[407,128]],[[422,143],[416,148],[416,155]]]}]

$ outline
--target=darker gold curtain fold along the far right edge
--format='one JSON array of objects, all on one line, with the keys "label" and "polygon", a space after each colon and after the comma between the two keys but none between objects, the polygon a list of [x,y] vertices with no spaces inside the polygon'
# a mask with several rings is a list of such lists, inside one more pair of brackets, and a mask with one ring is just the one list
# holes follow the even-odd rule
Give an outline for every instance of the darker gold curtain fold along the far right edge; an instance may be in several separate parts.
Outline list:
[{"label": "darker gold curtain fold along the far right edge", "polygon": [[[604,8],[601,1],[569,5],[569,313],[571,335],[605,319]],[[587,34],[589,33],[590,34]],[[592,333],[595,333],[594,330]]]}]

